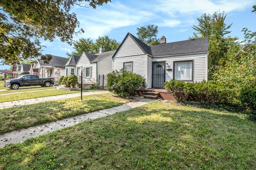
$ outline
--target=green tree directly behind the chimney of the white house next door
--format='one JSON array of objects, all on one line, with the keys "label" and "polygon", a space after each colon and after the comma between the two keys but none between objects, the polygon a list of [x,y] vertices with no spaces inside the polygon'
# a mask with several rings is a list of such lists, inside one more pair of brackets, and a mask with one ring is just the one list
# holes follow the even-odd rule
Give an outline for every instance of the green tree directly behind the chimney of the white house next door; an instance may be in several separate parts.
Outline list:
[{"label": "green tree directly behind the chimney of the white house next door", "polygon": [[94,53],[99,53],[100,47],[103,46],[105,51],[116,50],[119,43],[115,39],[110,39],[108,36],[99,37],[94,44]]}]

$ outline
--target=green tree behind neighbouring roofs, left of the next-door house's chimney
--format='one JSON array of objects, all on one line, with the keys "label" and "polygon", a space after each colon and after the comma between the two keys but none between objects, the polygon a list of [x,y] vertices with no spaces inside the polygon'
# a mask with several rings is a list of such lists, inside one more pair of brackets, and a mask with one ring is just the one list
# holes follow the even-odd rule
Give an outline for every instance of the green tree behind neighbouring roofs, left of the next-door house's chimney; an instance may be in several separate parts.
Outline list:
[{"label": "green tree behind neighbouring roofs, left of the next-door house's chimney", "polygon": [[82,55],[83,52],[93,52],[94,43],[90,38],[81,38],[78,41],[76,41],[73,48],[75,49],[75,52],[71,54],[67,53],[68,56]]}]

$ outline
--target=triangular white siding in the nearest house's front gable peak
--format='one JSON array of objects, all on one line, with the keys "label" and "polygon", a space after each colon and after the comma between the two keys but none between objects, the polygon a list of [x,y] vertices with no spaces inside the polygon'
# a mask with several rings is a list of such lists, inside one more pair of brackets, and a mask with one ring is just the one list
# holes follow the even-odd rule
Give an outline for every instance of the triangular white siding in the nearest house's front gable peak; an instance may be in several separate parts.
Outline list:
[{"label": "triangular white siding in the nearest house's front gable peak", "polygon": [[140,47],[132,40],[130,36],[128,36],[124,41],[122,47],[118,50],[115,58],[143,54],[144,53],[142,52]]}]

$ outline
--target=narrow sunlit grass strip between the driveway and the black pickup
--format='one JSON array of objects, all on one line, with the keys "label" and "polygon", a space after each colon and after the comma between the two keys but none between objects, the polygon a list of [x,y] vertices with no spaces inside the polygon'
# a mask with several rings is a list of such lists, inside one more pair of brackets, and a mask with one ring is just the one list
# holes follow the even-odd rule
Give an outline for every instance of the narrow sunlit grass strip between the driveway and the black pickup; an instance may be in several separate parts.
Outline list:
[{"label": "narrow sunlit grass strip between the driveway and the black pickup", "polygon": [[[83,90],[90,91],[90,90]],[[66,90],[49,90],[49,91],[36,91],[22,94],[13,94],[13,95],[4,95],[0,96],[0,103],[5,101],[15,101],[15,100],[25,100],[25,99],[33,99],[39,97],[47,97],[47,96],[57,96],[57,95],[65,95],[65,94],[74,94],[80,91],[66,91]],[[0,111],[1,112],[1,111]]]}]

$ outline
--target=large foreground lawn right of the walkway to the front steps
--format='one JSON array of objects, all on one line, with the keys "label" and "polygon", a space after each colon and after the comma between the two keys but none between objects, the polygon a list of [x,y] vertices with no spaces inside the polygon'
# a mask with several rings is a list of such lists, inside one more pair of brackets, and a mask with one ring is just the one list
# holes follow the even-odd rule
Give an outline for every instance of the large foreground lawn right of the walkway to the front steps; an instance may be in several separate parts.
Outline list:
[{"label": "large foreground lawn right of the walkway to the front steps", "polygon": [[256,124],[150,103],[0,149],[6,169],[256,169]]}]

